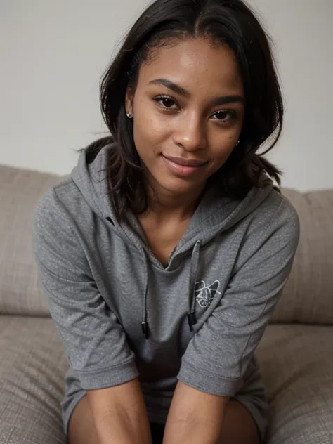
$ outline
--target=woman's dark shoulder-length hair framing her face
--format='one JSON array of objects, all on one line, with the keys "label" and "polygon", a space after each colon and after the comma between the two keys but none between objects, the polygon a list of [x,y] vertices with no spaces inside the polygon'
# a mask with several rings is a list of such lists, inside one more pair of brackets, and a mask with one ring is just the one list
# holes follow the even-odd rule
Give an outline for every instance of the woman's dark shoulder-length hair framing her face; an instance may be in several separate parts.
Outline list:
[{"label": "woman's dark shoulder-length hair framing her face", "polygon": [[[272,42],[259,19],[242,0],[156,0],[131,27],[101,79],[100,108],[110,136],[86,148],[91,162],[103,145],[113,143],[107,183],[119,219],[128,207],[136,213],[147,208],[133,122],[126,117],[126,89],[135,93],[141,65],[158,48],[200,37],[234,51],[246,102],[240,143],[209,180],[218,181],[221,193],[233,199],[242,199],[253,186],[264,186],[263,170],[281,183],[282,171],[263,157],[280,137],[284,110]],[[257,153],[266,141],[268,148]]]}]

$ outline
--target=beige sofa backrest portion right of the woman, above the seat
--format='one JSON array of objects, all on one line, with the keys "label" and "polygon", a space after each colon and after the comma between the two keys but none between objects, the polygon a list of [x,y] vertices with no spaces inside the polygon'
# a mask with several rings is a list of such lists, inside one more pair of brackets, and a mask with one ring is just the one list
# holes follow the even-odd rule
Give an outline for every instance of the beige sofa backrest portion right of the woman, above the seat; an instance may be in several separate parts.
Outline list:
[{"label": "beige sofa backrest portion right of the woman, above the seat", "polygon": [[289,281],[270,322],[333,325],[333,190],[282,188],[301,223]]}]

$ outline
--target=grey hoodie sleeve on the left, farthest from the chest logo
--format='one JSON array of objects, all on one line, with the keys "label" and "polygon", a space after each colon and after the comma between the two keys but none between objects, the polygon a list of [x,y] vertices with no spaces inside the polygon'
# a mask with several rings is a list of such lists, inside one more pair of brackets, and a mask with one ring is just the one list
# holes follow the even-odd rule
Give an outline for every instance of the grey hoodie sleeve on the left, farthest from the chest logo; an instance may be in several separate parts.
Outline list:
[{"label": "grey hoodie sleeve on the left, farthest from the chest logo", "polygon": [[124,330],[98,292],[75,221],[56,188],[35,211],[33,246],[51,317],[83,389],[135,379],[138,371]]}]

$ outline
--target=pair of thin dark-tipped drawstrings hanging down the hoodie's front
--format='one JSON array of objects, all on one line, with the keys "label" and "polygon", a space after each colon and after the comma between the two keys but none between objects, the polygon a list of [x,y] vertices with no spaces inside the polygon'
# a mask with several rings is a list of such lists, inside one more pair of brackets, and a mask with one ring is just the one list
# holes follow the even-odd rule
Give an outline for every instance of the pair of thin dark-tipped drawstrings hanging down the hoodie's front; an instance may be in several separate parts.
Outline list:
[{"label": "pair of thin dark-tipped drawstrings hanging down the hoodie's front", "polygon": [[[193,325],[197,323],[195,318],[195,282],[197,281],[197,268],[199,266],[201,241],[197,240],[192,250],[191,266],[190,266],[190,280],[189,280],[189,301],[188,301],[188,325],[190,331],[193,331]],[[147,296],[148,296],[148,258],[145,254],[145,249],[141,247],[141,254],[143,256],[143,263],[145,268],[144,281],[145,289],[143,293],[143,320],[141,322],[142,332],[145,339],[149,338],[149,326],[147,320]]]}]

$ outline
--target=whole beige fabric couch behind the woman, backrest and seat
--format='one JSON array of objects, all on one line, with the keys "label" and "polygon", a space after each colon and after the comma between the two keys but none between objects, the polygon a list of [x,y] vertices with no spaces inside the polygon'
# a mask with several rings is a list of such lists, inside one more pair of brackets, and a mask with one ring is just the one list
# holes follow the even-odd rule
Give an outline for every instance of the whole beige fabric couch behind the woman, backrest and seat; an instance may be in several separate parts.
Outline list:
[{"label": "whole beige fabric couch behind the woman, backrest and seat", "polygon": [[[34,207],[56,176],[0,166],[0,444],[65,443],[67,358],[32,255]],[[333,443],[333,190],[283,189],[299,213],[291,278],[256,355],[269,444]]]}]

